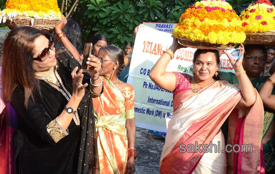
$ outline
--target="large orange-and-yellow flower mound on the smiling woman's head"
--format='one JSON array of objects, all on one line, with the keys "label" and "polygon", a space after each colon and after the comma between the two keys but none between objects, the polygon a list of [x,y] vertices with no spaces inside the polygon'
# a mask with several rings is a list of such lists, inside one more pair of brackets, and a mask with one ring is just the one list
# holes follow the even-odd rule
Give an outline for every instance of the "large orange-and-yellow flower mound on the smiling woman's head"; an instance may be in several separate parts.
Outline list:
[{"label": "large orange-and-yellow flower mound on the smiling woman's head", "polygon": [[211,44],[243,43],[241,26],[242,21],[225,0],[203,0],[181,14],[173,35]]}]

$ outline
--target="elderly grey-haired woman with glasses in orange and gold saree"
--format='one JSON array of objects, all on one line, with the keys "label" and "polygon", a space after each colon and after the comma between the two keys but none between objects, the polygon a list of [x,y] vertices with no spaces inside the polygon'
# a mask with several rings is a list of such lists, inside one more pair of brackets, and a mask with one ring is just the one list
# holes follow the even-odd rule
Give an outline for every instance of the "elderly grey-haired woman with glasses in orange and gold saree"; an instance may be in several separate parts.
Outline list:
[{"label": "elderly grey-haired woman with glasses in orange and gold saree", "polygon": [[124,64],[123,51],[103,46],[98,52],[104,93],[93,98],[96,117],[100,173],[124,174],[135,171],[134,88],[117,78]]}]

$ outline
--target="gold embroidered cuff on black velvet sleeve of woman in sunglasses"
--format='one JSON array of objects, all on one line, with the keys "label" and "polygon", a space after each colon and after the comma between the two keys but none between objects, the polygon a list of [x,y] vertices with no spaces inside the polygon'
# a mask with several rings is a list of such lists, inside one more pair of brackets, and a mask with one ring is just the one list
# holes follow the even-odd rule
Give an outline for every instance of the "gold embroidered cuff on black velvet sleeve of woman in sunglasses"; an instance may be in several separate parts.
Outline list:
[{"label": "gold embroidered cuff on black velvet sleeve of woman in sunglasses", "polygon": [[47,125],[47,132],[52,137],[54,142],[58,142],[60,139],[69,135],[69,133],[63,128],[62,124],[59,122],[58,117],[53,121],[49,122]]}]

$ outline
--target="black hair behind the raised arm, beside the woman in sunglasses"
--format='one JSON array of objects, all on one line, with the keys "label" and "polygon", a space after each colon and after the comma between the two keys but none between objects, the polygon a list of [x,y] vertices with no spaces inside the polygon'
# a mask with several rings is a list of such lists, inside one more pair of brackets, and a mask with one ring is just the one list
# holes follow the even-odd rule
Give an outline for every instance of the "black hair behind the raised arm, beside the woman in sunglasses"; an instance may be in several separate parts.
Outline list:
[{"label": "black hair behind the raised arm, beside the woman in sunglasses", "polygon": [[[71,44],[73,44],[73,46],[78,50],[78,52],[82,52],[83,51],[82,32],[78,23],[74,21],[74,19],[68,19],[67,24],[64,26],[62,31],[65,33],[66,37],[71,42]],[[54,32],[54,35],[56,35],[55,32]],[[54,45],[54,47],[57,49],[62,46],[64,46],[63,43],[59,41],[56,37],[56,44]]]}]

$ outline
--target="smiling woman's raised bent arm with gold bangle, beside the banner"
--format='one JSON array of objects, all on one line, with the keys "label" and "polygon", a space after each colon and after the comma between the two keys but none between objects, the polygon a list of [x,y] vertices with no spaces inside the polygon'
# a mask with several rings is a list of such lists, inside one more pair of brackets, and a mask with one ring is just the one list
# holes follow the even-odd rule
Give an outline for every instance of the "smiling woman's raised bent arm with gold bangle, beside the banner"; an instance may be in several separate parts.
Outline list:
[{"label": "smiling woman's raised bent arm with gold bangle, beside the banner", "polygon": [[[167,50],[168,53],[164,53],[157,63],[154,65],[152,70],[150,71],[149,77],[150,79],[159,87],[164,90],[173,91],[176,86],[176,76],[172,72],[166,72],[165,69],[169,63],[169,61],[173,58],[174,53],[177,49],[184,48],[182,45],[178,43],[176,38],[173,39],[173,44]],[[169,55],[170,53],[170,55]]]}]

